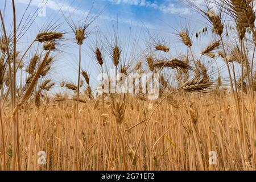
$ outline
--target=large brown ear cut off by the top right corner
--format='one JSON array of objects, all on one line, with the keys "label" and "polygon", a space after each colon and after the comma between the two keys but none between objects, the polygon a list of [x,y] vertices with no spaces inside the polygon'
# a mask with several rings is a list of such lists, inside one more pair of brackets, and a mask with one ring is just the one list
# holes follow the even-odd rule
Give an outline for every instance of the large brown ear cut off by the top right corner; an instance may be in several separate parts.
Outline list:
[{"label": "large brown ear cut off by the top right corner", "polygon": [[254,1],[246,0],[230,0],[231,7],[236,13],[238,22],[241,23],[243,27],[249,27],[249,23],[254,26],[255,13],[254,13]]}]

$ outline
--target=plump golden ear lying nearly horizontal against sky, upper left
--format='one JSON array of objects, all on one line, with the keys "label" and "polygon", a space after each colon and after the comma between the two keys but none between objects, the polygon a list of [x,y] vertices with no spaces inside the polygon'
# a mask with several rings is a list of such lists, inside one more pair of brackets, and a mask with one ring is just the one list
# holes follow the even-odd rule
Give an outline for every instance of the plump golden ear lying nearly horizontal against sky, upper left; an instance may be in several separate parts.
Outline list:
[{"label": "plump golden ear lying nearly horizontal against sky, upper left", "polygon": [[40,43],[44,42],[51,42],[55,39],[61,39],[63,37],[63,33],[56,32],[56,31],[46,31],[46,32],[40,32],[38,35],[36,35],[36,41]]}]

